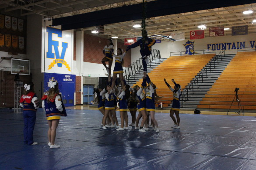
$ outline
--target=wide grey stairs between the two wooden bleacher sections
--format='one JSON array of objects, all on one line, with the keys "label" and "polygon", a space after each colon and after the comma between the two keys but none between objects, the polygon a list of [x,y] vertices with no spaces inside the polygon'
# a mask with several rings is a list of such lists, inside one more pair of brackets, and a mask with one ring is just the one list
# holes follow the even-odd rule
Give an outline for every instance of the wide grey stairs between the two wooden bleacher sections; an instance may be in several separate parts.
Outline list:
[{"label": "wide grey stairs between the two wooden bleacher sections", "polygon": [[[186,95],[188,96],[188,100],[185,101],[184,97],[183,101],[181,99],[182,108],[184,110],[197,108],[197,105],[200,104],[200,101],[202,101],[203,97],[207,94],[212,85],[214,85],[214,82],[216,82],[234,56],[235,54],[226,54],[222,56],[221,60],[219,59],[218,64],[215,64],[215,67],[213,68],[213,60],[217,58],[217,56],[214,56],[214,58],[212,58],[210,62],[205,65],[199,74],[197,74],[195,78],[193,78],[193,80],[186,86],[186,88],[183,89],[182,95],[184,92],[188,92],[188,95]],[[211,71],[209,70],[210,65]],[[195,82],[198,83],[195,84]],[[171,105],[169,107],[171,107]]]}]

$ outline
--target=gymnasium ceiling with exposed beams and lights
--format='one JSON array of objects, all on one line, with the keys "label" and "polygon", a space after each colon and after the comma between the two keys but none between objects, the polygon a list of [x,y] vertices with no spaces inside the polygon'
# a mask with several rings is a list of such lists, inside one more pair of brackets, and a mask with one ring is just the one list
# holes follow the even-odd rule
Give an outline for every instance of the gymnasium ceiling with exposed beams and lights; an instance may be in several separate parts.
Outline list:
[{"label": "gymnasium ceiling with exposed beams and lights", "polygon": [[[152,2],[155,0],[147,0]],[[158,0],[159,2],[161,0]],[[245,0],[246,1],[246,0]],[[171,1],[175,2],[175,1]],[[207,0],[204,2],[207,3]],[[224,2],[224,1],[223,1]],[[254,1],[255,2],[255,1]],[[0,0],[0,8],[5,12],[19,12],[21,16],[39,14],[49,18],[61,18],[107,10],[117,7],[124,7],[142,3],[142,0]],[[245,10],[252,10],[252,14],[243,14]],[[162,34],[168,36],[172,32],[185,32],[185,38],[189,38],[189,31],[198,30],[198,25],[205,24],[207,31],[209,27],[229,27],[225,35],[231,35],[232,26],[248,25],[248,33],[256,32],[256,3],[249,3],[238,6],[219,7],[198,11],[170,14],[147,18],[147,31],[149,35]],[[138,37],[141,35],[140,28],[133,28],[133,24],[140,24],[141,20],[130,20],[125,22],[104,24],[104,32],[101,35],[109,37],[117,36],[119,39],[125,37]],[[84,31],[91,31],[95,27],[81,28]],[[205,34],[208,37],[209,34]]]}]

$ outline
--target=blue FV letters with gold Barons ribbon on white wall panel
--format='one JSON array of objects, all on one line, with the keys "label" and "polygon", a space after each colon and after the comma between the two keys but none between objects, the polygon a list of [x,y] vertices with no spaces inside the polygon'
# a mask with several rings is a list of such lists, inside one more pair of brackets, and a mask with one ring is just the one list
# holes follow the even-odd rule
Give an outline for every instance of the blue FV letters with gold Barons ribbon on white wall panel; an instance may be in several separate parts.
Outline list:
[{"label": "blue FV letters with gold Barons ribbon on white wall panel", "polygon": [[[65,65],[67,70],[71,71],[67,61],[64,60],[68,43],[53,40],[53,34],[57,34],[58,38],[62,38],[62,31],[53,27],[46,27],[46,31],[48,32],[48,51],[46,52],[46,58],[53,58],[53,62],[51,62],[51,64],[48,66],[48,70],[57,64],[58,67]],[[61,47],[62,51],[59,51],[59,46]]]}]

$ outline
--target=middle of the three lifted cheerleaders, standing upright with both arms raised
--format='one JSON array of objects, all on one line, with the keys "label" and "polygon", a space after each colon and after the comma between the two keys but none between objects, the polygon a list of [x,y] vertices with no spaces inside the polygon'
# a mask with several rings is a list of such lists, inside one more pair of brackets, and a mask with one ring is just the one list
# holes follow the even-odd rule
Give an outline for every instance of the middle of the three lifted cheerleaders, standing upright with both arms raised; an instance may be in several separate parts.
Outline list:
[{"label": "middle of the three lifted cheerleaders, standing upright with both arms raised", "polygon": [[123,78],[123,62],[124,62],[123,57],[125,56],[126,51],[124,53],[122,53],[122,49],[117,48],[116,53],[117,53],[117,55],[112,53],[112,56],[115,58],[115,67],[114,67],[114,71],[113,71],[113,80],[112,80],[111,90],[114,89],[117,74],[119,74],[122,88],[125,85],[124,78]]}]

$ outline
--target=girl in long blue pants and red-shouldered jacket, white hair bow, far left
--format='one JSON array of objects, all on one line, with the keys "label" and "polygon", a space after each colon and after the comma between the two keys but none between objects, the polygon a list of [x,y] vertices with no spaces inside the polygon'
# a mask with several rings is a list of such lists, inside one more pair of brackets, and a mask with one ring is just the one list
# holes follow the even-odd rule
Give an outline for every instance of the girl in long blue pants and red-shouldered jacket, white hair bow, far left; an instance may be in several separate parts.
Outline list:
[{"label": "girl in long blue pants and red-shouldered jacket, white hair bow, far left", "polygon": [[25,84],[24,95],[21,96],[20,105],[23,107],[23,119],[24,119],[24,143],[28,145],[36,145],[37,142],[33,140],[33,131],[35,127],[36,110],[39,108],[39,101],[34,92],[34,83],[29,82]]}]

